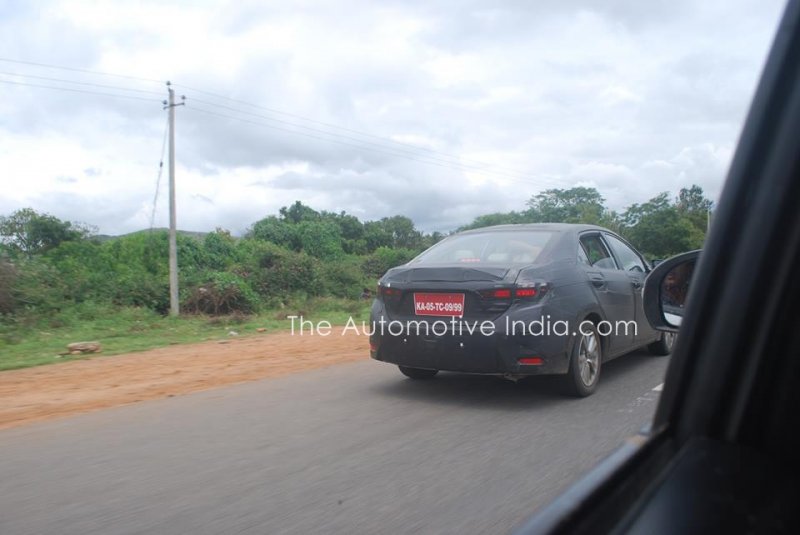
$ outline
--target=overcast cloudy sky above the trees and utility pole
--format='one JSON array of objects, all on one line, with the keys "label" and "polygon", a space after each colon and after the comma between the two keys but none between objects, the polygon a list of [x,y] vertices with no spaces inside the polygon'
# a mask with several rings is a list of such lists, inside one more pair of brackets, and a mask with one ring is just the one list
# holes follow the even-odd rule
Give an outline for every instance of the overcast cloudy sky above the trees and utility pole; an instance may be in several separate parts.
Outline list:
[{"label": "overcast cloudy sky above the trees and utility pole", "polygon": [[[149,227],[166,80],[181,229],[298,199],[448,231],[553,187],[716,198],[783,7],[3,0],[0,214]],[[165,169],[156,226],[167,194]]]}]

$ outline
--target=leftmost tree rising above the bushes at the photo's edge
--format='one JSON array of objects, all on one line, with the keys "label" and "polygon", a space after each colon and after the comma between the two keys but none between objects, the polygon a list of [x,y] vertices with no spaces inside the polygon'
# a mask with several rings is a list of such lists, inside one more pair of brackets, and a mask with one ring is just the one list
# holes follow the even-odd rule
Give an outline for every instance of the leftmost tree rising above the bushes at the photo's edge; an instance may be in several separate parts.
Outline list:
[{"label": "leftmost tree rising above the bushes at the photo's edge", "polygon": [[12,253],[27,256],[38,254],[65,241],[88,237],[91,229],[79,223],[61,221],[32,208],[22,208],[10,216],[0,217],[0,240]]}]

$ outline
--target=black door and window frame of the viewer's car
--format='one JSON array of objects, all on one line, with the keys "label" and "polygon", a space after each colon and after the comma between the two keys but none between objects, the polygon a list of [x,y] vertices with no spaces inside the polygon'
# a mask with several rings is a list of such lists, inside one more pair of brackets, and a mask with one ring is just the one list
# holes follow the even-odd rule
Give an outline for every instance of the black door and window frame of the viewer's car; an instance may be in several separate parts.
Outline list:
[{"label": "black door and window frame of the viewer's car", "polygon": [[800,0],[790,0],[695,268],[652,428],[519,533],[797,531],[798,145]]}]

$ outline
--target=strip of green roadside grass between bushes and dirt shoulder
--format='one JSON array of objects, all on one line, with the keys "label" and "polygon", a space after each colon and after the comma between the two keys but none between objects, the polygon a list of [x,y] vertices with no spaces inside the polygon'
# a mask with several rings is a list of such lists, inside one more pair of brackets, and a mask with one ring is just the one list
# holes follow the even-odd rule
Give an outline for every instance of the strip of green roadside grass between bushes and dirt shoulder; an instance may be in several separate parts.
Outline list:
[{"label": "strip of green roadside grass between bushes and dirt shoulder", "polygon": [[[0,323],[0,371],[28,368],[88,357],[111,356],[175,344],[288,331],[287,316],[302,316],[316,325],[347,324],[349,318],[361,329],[369,320],[370,304],[335,298],[312,298],[278,310],[256,315],[186,315],[165,317],[144,308],[119,308],[83,303],[52,315],[46,320],[16,318]],[[295,319],[295,332],[300,324]],[[263,332],[257,329],[264,329]],[[233,334],[232,334],[233,333]],[[67,344],[98,341],[102,353],[63,355]]]}]

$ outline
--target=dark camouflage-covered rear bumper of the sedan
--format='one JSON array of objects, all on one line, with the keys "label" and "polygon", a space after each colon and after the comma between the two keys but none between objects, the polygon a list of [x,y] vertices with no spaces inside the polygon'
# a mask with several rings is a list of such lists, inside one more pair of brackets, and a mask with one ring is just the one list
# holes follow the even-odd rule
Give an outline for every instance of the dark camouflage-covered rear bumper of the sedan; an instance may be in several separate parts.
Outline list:
[{"label": "dark camouflage-covered rear bumper of the sedan", "polygon": [[[564,374],[569,367],[571,337],[521,336],[507,329],[510,321],[540,317],[541,309],[526,309],[516,317],[494,321],[490,334],[479,329],[385,329],[378,326],[382,307],[373,309],[370,356],[375,360],[432,370],[480,374]],[[538,357],[541,364],[523,364],[521,358]]]}]

